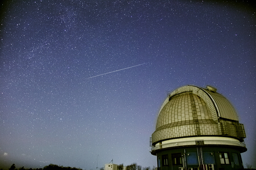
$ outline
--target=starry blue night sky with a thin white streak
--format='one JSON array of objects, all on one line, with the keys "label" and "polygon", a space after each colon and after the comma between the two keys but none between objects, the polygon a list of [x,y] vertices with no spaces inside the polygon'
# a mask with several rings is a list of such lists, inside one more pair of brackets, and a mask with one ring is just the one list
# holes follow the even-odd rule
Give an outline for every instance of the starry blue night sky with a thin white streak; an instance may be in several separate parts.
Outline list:
[{"label": "starry blue night sky with a thin white streak", "polygon": [[254,4],[5,0],[0,11],[0,168],[152,168],[156,116],[183,85],[227,97],[256,168]]}]

